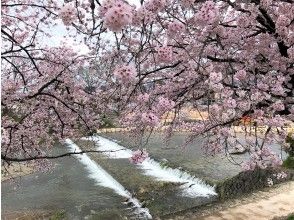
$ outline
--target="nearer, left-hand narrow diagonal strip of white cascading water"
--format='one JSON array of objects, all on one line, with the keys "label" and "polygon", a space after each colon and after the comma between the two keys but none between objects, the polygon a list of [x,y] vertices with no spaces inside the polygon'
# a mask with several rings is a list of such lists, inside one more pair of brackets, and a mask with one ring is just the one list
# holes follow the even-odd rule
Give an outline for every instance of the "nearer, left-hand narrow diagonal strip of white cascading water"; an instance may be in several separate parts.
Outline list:
[{"label": "nearer, left-hand narrow diagonal strip of white cascading water", "polygon": [[[70,139],[66,139],[65,143],[71,152],[81,152],[81,149]],[[129,203],[132,203],[135,208],[135,214],[139,217],[152,219],[147,208],[142,208],[140,201],[132,196],[119,182],[117,182],[110,174],[108,174],[102,167],[91,160],[85,153],[75,155],[82,164],[85,165],[89,172],[89,177],[94,179],[100,186],[104,186],[113,189],[117,194],[128,199]]]}]

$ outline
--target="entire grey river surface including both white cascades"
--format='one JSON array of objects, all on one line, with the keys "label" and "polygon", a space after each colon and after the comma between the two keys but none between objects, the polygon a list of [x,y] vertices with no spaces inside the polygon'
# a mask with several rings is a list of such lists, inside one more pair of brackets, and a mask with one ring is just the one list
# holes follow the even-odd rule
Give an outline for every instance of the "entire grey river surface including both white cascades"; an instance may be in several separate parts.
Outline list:
[{"label": "entire grey river surface including both white cascades", "polygon": [[[153,159],[141,165],[128,160],[137,143],[126,134],[108,134],[107,138],[91,139],[99,144],[92,149],[124,150],[54,160],[50,172],[2,182],[2,218],[14,211],[63,210],[68,219],[148,219],[216,200],[213,187],[201,179],[218,181],[240,171],[224,157],[203,157],[200,142],[183,150],[179,147],[183,134],[174,136],[169,145],[161,134],[151,136],[146,148]],[[87,141],[69,141],[52,154],[84,149]],[[166,161],[173,168],[162,167]]]}]

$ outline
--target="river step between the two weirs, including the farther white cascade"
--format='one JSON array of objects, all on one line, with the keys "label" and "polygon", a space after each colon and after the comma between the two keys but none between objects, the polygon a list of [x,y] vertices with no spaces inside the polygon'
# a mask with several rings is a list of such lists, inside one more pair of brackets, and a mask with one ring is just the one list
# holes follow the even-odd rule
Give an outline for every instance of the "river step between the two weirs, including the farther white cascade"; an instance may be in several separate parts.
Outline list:
[{"label": "river step between the two weirs, including the farther white cascade", "polygon": [[145,204],[153,216],[181,211],[216,199],[213,187],[180,170],[162,168],[152,159],[139,165],[131,164],[128,159],[131,151],[112,141],[97,137],[77,143],[95,149],[95,142],[99,143],[98,150],[123,149],[121,154],[90,154],[90,157]]}]

